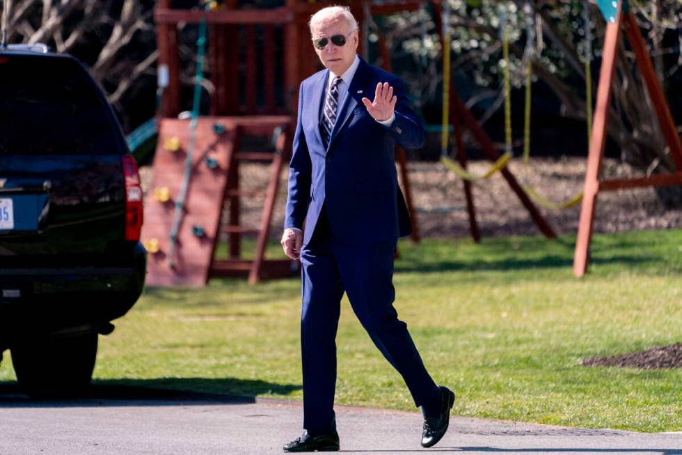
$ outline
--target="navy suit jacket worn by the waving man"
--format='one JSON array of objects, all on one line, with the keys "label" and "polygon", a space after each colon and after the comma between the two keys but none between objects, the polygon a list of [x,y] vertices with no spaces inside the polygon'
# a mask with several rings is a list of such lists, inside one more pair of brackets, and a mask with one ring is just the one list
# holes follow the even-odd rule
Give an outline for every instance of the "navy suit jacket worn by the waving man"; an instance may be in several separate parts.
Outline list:
[{"label": "navy suit jacket worn by the waving man", "polygon": [[[426,134],[409,107],[402,80],[360,58],[325,148],[319,118],[328,75],[322,70],[301,82],[285,229],[303,229],[307,245],[326,204],[332,236],[346,245],[409,235],[412,226],[397,183],[395,144],[420,148]],[[374,99],[379,82],[388,82],[397,96],[390,127],[375,121],[361,101]]]}]

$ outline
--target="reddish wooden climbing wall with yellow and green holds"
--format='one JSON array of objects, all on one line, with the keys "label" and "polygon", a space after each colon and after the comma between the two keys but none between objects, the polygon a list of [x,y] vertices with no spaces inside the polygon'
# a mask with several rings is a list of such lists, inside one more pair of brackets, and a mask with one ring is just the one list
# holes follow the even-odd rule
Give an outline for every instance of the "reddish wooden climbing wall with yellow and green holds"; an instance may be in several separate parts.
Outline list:
[{"label": "reddish wooden climbing wall with yellow and green holds", "polygon": [[164,118],[159,125],[154,177],[145,196],[142,228],[142,241],[149,252],[148,286],[204,286],[208,279],[227,185],[227,167],[233,153],[235,126],[219,117],[198,120],[174,268],[170,268],[170,229],[185,171],[189,122]]}]

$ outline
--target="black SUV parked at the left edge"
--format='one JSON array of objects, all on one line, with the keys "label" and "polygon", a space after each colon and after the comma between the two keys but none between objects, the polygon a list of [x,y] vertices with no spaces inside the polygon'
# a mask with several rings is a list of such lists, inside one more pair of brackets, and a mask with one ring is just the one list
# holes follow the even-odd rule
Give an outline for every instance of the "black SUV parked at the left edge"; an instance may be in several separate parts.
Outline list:
[{"label": "black SUV parked at the left edge", "polygon": [[0,358],[27,393],[90,383],[98,334],[142,293],[142,217],[135,161],[84,66],[0,48]]}]

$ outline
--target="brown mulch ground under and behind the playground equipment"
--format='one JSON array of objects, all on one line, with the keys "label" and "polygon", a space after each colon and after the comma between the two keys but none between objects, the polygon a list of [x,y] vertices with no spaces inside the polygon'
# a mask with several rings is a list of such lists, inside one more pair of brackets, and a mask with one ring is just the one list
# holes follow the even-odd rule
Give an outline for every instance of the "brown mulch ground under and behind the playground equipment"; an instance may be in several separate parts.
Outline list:
[{"label": "brown mulch ground under and behind the playground equipment", "polygon": [[[509,168],[520,183],[526,183],[551,201],[564,201],[582,191],[585,178],[584,157],[561,159],[534,158],[528,173],[521,160],[512,160]],[[472,173],[481,174],[489,162],[470,162]],[[239,167],[241,185],[246,190],[265,190],[269,171],[267,164],[244,163]],[[143,189],[148,189],[151,168],[143,167]],[[616,160],[604,160],[603,176],[622,178],[638,173]],[[462,180],[447,171],[440,162],[410,162],[409,176],[413,190],[418,229],[424,237],[454,237],[469,235]],[[278,238],[284,219],[287,172],[280,180],[280,192],[273,215],[271,237]],[[349,191],[351,186],[349,185]],[[484,238],[527,236],[539,234],[518,197],[509,190],[507,181],[496,174],[473,185],[477,222]],[[243,198],[241,222],[246,227],[260,226],[263,197]],[[580,204],[566,210],[539,208],[557,234],[578,231]],[[656,198],[652,188],[639,188],[599,194],[594,220],[594,232],[614,233],[643,229],[682,227],[682,208],[667,209]]]}]

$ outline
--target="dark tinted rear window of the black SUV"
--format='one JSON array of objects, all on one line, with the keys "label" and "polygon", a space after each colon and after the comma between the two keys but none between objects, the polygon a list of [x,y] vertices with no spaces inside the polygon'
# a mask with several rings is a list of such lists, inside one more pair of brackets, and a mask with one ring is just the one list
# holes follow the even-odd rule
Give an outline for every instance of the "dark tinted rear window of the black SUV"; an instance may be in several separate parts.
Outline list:
[{"label": "dark tinted rear window of the black SUV", "polygon": [[74,59],[0,54],[0,155],[124,153],[113,122]]}]

